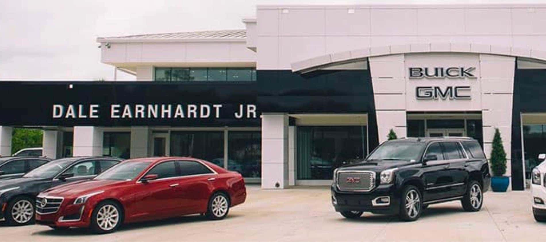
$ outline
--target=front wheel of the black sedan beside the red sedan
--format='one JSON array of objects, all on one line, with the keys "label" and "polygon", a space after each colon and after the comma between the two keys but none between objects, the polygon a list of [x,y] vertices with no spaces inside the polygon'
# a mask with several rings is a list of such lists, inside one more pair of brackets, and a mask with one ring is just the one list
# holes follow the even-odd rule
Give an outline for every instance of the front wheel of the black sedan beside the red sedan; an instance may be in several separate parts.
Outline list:
[{"label": "front wheel of the black sedan beside the red sedan", "polygon": [[5,221],[11,226],[30,225],[34,223],[34,201],[28,197],[12,199],[5,211]]}]

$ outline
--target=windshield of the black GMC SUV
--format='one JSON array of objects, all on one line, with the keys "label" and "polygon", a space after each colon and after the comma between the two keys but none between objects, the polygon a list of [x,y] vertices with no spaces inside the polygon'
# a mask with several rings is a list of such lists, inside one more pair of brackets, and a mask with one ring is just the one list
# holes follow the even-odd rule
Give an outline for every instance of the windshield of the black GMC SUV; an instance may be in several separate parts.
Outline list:
[{"label": "windshield of the black GMC SUV", "polygon": [[379,146],[366,160],[419,160],[425,143],[421,142],[386,142]]}]

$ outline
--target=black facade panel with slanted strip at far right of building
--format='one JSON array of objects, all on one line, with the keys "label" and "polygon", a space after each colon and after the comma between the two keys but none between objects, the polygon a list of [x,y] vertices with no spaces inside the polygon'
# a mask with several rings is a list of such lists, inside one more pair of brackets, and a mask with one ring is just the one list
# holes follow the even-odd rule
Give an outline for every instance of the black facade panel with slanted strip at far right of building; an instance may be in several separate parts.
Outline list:
[{"label": "black facade panel with slanted strip at far right of building", "polygon": [[515,70],[512,109],[512,190],[524,190],[521,113],[546,112],[546,70]]}]

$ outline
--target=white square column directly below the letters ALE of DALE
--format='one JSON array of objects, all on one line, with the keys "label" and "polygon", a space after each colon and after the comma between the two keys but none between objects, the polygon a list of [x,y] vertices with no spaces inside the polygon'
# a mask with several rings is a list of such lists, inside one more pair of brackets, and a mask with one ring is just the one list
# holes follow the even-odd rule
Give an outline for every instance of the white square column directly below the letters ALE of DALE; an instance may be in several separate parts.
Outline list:
[{"label": "white square column directly below the letters ALE of DALE", "polygon": [[74,156],[103,155],[103,129],[96,126],[74,126]]}]

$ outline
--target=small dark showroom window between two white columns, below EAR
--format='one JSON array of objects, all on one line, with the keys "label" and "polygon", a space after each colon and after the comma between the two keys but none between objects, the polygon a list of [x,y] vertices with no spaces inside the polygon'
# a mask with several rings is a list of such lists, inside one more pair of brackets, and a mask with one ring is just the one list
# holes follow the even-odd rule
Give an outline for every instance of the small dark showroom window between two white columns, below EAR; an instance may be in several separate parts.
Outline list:
[{"label": "small dark showroom window between two white columns, below EAR", "polygon": [[131,147],[130,132],[104,132],[103,155],[129,159]]}]

